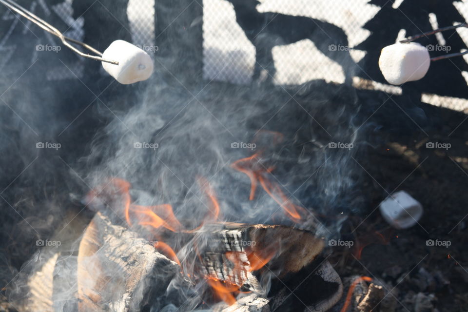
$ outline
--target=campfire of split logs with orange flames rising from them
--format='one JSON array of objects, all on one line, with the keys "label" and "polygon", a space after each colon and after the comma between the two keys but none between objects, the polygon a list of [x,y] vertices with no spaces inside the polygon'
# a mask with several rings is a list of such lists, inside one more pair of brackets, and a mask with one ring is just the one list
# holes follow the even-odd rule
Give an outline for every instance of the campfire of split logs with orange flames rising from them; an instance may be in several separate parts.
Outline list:
[{"label": "campfire of split logs with orange flames rising from them", "polygon": [[[273,138],[272,146],[282,139],[281,134],[272,132],[261,132],[258,137]],[[252,144],[260,144],[256,139]],[[261,186],[293,226],[223,221],[216,190],[201,176],[196,177],[201,205],[194,209],[205,212],[199,220],[179,220],[170,203],[134,203],[130,183],[118,177],[89,192],[85,204],[97,214],[79,243],[78,310],[141,309],[145,301],[161,296],[149,290],[153,284],[165,290],[175,283],[187,292],[193,291],[190,297],[194,307],[266,311],[272,300],[275,306],[281,306],[281,296],[288,289],[285,286],[272,294],[270,284],[275,279],[294,279],[295,275],[303,278],[306,270],[326,286],[312,301],[306,297],[299,300],[307,301],[313,311],[328,311],[341,298],[343,286],[338,274],[320,256],[325,237],[320,237],[318,222],[316,229],[301,229],[311,215],[294,204],[274,181],[274,167],[263,163],[265,152],[260,149],[236,160],[231,168],[250,179],[249,200],[255,200],[255,193],[260,191],[257,186]]]}]

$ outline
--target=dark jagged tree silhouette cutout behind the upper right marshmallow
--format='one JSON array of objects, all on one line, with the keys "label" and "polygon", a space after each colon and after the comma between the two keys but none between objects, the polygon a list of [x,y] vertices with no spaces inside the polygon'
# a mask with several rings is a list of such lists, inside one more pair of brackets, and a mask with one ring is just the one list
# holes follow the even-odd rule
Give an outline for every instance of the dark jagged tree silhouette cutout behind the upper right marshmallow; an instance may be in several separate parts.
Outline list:
[{"label": "dark jagged tree silhouette cutout behind the upper right marshmallow", "polygon": [[[406,30],[406,37],[431,31],[430,13],[435,14],[439,27],[465,22],[451,1],[404,0],[398,8],[393,8],[392,2],[387,0],[371,0],[369,2],[380,6],[381,10],[364,25],[364,28],[370,30],[371,35],[356,47],[356,49],[367,51],[366,56],[359,62],[359,66],[363,70],[360,73],[362,78],[387,83],[378,67],[380,51],[383,47],[395,43],[401,29]],[[416,42],[434,47],[433,51],[429,51],[431,57],[467,49],[456,30],[446,31],[442,34],[446,40],[445,49],[450,49],[447,52],[441,48],[434,35],[418,39]],[[437,49],[439,51],[435,51]],[[461,73],[467,70],[468,64],[462,57],[434,61],[431,62],[426,77],[419,81],[407,82],[402,88],[406,94],[430,93],[467,98],[467,81]]]}]

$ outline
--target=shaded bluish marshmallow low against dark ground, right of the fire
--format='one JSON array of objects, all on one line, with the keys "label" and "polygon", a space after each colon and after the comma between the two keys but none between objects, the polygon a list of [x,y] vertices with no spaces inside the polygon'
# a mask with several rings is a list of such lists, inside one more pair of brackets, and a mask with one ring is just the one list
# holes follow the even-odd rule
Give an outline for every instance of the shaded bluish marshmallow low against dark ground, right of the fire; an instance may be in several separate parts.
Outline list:
[{"label": "shaded bluish marshmallow low against dark ground, right of the fire", "polygon": [[393,193],[379,208],[384,219],[397,229],[412,227],[423,215],[423,206],[405,191]]}]

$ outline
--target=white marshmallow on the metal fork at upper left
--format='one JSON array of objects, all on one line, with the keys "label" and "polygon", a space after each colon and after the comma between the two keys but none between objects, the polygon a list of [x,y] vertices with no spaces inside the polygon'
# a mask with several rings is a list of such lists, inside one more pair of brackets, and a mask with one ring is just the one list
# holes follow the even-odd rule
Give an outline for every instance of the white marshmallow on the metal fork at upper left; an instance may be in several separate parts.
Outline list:
[{"label": "white marshmallow on the metal fork at upper left", "polygon": [[121,84],[131,84],[150,78],[153,60],[137,46],[116,40],[102,54],[103,59],[115,60],[118,65],[102,62],[102,67]]}]

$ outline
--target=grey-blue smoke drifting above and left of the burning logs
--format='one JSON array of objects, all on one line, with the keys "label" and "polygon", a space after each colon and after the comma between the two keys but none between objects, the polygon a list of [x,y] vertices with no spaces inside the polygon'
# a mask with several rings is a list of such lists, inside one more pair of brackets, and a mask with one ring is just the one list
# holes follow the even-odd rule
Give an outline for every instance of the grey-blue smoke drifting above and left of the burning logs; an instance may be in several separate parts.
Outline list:
[{"label": "grey-blue smoke drifting above and left of the burning logs", "polygon": [[[63,219],[73,220],[77,211],[78,219],[84,219],[77,225],[82,231],[92,214],[81,213],[85,207],[77,199],[109,178],[131,184],[132,203],[170,204],[188,229],[198,226],[210,210],[200,178],[215,191],[220,221],[285,224],[331,236],[339,232],[345,215],[362,206],[360,170],[353,157],[362,150],[366,129],[359,128],[360,106],[351,87],[314,81],[285,89],[202,80],[201,71],[178,59],[192,56],[185,47],[200,45],[199,38],[183,40],[182,47],[177,42],[171,45],[173,54],[164,52],[162,45],[155,75],[135,86],[119,86],[105,77],[52,84],[42,75],[43,66],[57,62],[51,54],[41,56],[44,63],[42,59],[32,63],[18,82],[5,80],[8,91],[1,97],[5,105],[0,105],[0,174],[5,190],[0,195],[5,197],[3,210],[15,212],[5,213],[5,224],[11,224],[2,234],[21,246],[8,246],[1,258],[6,262],[2,266],[8,272],[6,281],[22,267],[10,285],[13,302],[28,297],[26,281],[50,259],[50,254],[36,252],[23,263],[38,248],[36,240],[56,232],[65,245],[67,238],[61,231],[68,224]],[[23,37],[16,41],[19,51],[31,49]],[[17,64],[25,68],[13,65],[5,73],[18,77],[27,70],[24,61]],[[60,148],[41,148],[38,143],[59,143]],[[293,222],[261,185],[249,198],[252,181],[232,164],[254,154],[258,154],[255,165],[269,181],[303,208],[300,221]],[[117,209],[121,197],[106,199],[113,204],[93,203],[86,208],[114,209],[108,213],[124,223]],[[208,245],[206,237],[197,239]],[[184,264],[187,267],[194,266],[189,243],[176,246],[181,261],[189,261]],[[71,264],[55,273],[61,289],[54,293],[58,311],[75,309],[71,298],[76,285],[63,277],[76,271],[77,251],[75,241],[60,249],[64,263]],[[270,277],[261,282],[268,291]],[[167,300],[152,303],[151,309],[175,311],[185,300],[186,310],[195,309],[204,288],[189,289],[184,281],[174,279],[166,290]]]}]

